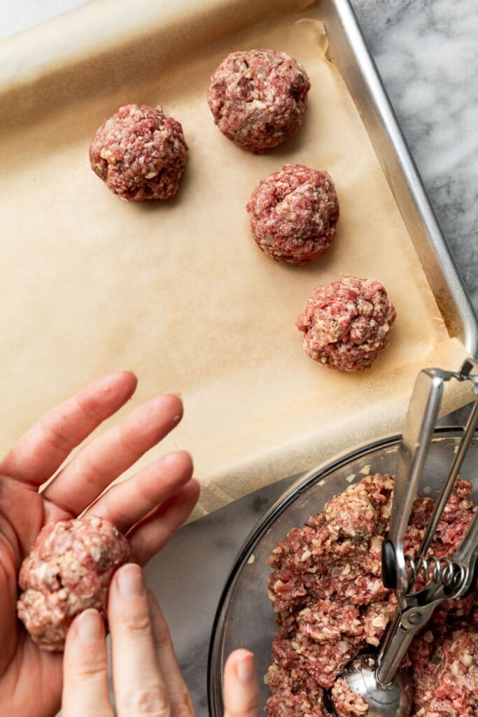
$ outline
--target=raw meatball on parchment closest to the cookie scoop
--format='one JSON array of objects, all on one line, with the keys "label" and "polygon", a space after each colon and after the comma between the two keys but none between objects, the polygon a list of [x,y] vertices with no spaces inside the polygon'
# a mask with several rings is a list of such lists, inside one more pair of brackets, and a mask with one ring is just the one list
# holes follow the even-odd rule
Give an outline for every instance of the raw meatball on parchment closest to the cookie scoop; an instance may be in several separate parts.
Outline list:
[{"label": "raw meatball on parchment closest to the cookie scoop", "polygon": [[295,325],[304,349],[330,369],[358,371],[388,346],[396,310],[378,281],[343,274],[314,289]]}]

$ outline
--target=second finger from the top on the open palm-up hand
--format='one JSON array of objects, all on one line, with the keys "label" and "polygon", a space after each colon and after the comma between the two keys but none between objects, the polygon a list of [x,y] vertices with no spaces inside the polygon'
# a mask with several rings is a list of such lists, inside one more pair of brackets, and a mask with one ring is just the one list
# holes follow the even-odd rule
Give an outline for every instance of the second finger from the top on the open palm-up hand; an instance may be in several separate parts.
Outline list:
[{"label": "second finger from the top on the open palm-up hand", "polygon": [[161,441],[180,421],[177,396],[156,396],[132,411],[118,425],[80,450],[47,489],[44,497],[78,515],[112,480]]}]

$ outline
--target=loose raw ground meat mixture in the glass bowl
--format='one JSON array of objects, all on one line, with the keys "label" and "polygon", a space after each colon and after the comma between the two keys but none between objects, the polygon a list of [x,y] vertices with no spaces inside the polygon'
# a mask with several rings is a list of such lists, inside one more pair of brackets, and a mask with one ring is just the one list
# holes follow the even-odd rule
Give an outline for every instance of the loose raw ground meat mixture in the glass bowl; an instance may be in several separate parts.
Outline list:
[{"label": "loose raw ground meat mixture in the glass bowl", "polygon": [[[267,717],[325,717],[331,703],[338,717],[366,714],[363,698],[338,675],[359,652],[378,647],[396,608],[381,580],[393,482],[377,474],[350,485],[302,528],[292,528],[269,556],[278,631],[265,676]],[[431,553],[449,557],[461,543],[476,510],[471,490],[468,481],[457,481]],[[431,498],[416,497],[407,554],[419,550],[433,507]],[[409,650],[410,662],[414,717],[477,716],[478,587],[436,610]]]}]

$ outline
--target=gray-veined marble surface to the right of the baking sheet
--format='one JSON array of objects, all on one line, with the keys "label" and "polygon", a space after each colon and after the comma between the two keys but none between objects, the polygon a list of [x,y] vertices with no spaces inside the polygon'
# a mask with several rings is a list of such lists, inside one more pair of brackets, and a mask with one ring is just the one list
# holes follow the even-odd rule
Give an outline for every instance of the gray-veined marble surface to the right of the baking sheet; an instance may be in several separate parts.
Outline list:
[{"label": "gray-veined marble surface to the right of the baking sheet", "polygon": [[476,0],[353,0],[431,203],[478,310]]}]

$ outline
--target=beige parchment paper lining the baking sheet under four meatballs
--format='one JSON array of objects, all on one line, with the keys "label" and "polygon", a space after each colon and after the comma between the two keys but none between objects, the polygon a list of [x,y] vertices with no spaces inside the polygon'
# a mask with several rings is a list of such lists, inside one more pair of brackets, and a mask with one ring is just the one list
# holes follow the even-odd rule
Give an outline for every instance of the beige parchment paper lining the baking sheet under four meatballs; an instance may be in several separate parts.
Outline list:
[{"label": "beige parchment paper lining the baking sheet under four meatballs", "polygon": [[[300,133],[267,156],[221,136],[206,103],[219,62],[254,47],[288,52],[312,82]],[[293,0],[100,0],[0,45],[0,452],[90,379],[133,369],[123,412],[183,395],[183,422],[143,462],[190,450],[197,516],[399,432],[419,370],[459,368],[466,352],[326,49],[317,6]],[[132,102],[183,124],[170,201],[126,203],[90,170],[95,129]],[[333,246],[305,267],[272,262],[249,234],[249,194],[285,163],[328,169],[340,199]],[[311,361],[294,325],[342,272],[383,282],[398,314],[391,346],[358,374]],[[466,401],[457,386],[444,412]]]}]

